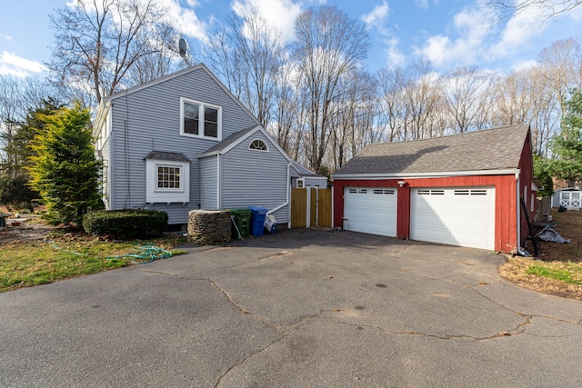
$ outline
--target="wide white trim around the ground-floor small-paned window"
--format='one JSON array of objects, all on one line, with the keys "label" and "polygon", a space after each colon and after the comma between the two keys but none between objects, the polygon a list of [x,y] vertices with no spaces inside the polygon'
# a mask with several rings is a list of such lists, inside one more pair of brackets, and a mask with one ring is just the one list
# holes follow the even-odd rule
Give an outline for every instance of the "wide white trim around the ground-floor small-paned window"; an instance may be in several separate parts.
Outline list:
[{"label": "wide white trim around the ground-floor small-paned window", "polygon": [[[157,167],[180,168],[180,188],[158,188]],[[146,160],[146,203],[186,204],[190,201],[190,163],[167,160]]]}]

